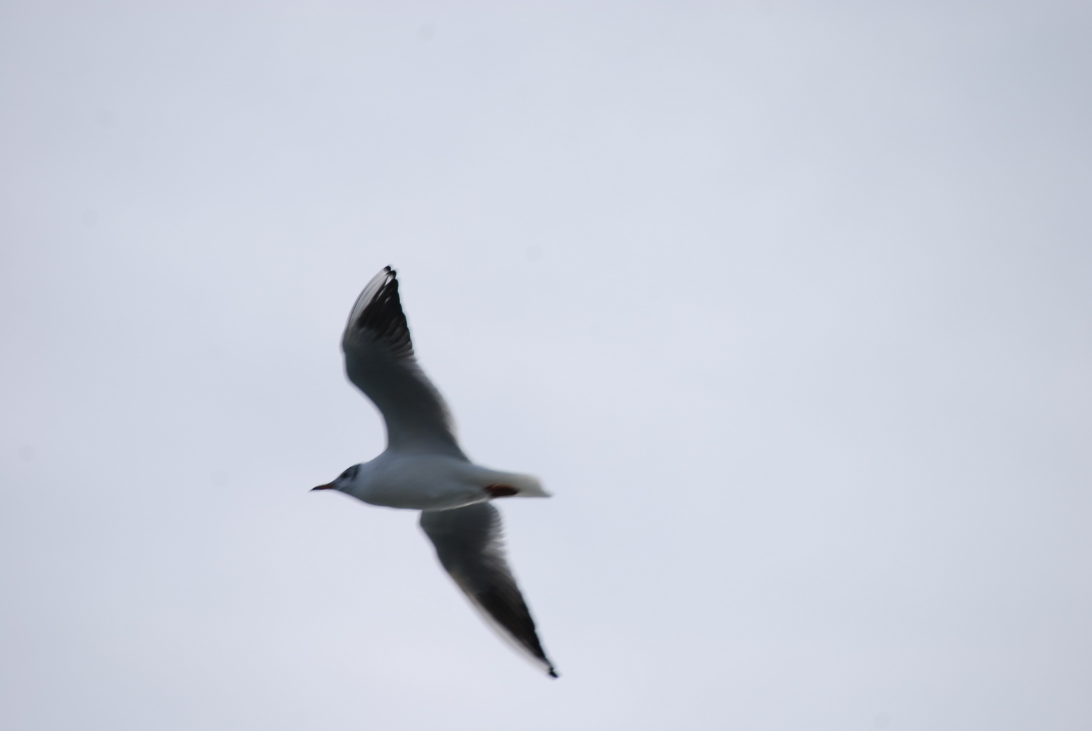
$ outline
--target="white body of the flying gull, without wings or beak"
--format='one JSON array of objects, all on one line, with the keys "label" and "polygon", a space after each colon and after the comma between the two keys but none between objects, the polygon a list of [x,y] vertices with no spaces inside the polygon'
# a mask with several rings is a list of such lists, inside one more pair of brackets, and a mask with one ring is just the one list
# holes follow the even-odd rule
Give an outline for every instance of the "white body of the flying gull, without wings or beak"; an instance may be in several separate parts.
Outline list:
[{"label": "white body of the flying gull, without wings or beak", "polygon": [[450,510],[491,498],[489,487],[507,486],[522,497],[549,497],[538,479],[500,472],[451,455],[388,449],[357,465],[337,490],[370,505],[412,510]]}]

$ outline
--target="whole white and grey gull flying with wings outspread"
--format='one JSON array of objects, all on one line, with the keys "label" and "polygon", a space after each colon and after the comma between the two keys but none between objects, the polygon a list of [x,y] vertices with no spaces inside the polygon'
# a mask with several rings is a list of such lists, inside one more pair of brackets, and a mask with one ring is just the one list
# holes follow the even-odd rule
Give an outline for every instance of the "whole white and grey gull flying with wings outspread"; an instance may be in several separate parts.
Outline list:
[{"label": "whole white and grey gull flying with wings outspread", "polygon": [[420,510],[440,565],[489,625],[550,677],[535,622],[505,557],[500,497],[549,497],[537,477],[474,464],[451,413],[414,357],[397,273],[384,267],[356,298],[342,335],[348,379],[379,408],[387,449],[313,490],[370,505]]}]

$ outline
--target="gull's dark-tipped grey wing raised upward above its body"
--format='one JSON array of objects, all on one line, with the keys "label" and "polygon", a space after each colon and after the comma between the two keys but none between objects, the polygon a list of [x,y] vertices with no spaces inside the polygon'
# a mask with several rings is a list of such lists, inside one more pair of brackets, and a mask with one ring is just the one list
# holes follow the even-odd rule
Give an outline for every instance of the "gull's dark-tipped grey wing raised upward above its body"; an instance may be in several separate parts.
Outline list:
[{"label": "gull's dark-tipped grey wing raised upward above its body", "polygon": [[448,406],[414,357],[395,274],[384,267],[356,298],[342,337],[345,372],[379,406],[392,448],[463,457]]}]

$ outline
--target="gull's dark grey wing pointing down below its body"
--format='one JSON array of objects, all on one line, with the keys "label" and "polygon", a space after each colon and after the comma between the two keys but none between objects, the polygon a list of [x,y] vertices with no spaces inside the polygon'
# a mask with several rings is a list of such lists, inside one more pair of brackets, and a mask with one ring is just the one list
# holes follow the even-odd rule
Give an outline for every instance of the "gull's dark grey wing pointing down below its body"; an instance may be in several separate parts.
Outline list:
[{"label": "gull's dark grey wing pointing down below its body", "polygon": [[489,624],[551,677],[557,677],[538,641],[535,621],[505,561],[497,508],[477,503],[453,510],[424,510],[420,527],[436,545],[443,568]]}]

